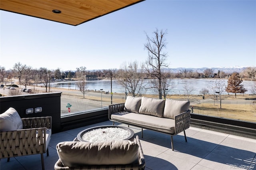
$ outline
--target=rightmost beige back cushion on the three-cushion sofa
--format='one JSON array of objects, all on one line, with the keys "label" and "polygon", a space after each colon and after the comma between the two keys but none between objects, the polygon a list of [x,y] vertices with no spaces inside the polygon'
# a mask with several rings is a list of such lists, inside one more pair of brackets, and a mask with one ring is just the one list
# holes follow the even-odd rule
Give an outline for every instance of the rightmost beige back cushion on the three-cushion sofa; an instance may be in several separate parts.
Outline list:
[{"label": "rightmost beige back cushion on the three-cushion sofa", "polygon": [[176,115],[188,111],[189,101],[165,100],[164,117],[174,119]]}]

